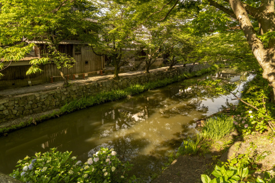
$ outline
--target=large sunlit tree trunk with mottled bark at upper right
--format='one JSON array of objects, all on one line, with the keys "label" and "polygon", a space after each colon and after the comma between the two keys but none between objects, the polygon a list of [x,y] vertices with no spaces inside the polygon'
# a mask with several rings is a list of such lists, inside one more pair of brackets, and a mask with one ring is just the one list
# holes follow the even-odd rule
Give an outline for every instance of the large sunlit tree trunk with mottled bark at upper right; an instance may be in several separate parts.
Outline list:
[{"label": "large sunlit tree trunk with mottled bark at upper right", "polygon": [[[274,88],[275,94],[275,49],[273,40],[271,40],[269,48],[265,49],[261,40],[257,37],[254,28],[250,22],[250,19],[247,15],[253,13],[249,11],[247,7],[240,0],[229,0],[229,3],[232,7],[234,14],[237,17],[238,22],[242,30],[245,33],[247,38],[247,42],[257,59],[258,63],[263,69],[263,78],[266,78],[270,85]],[[246,11],[245,7],[248,9]],[[274,15],[274,0],[262,0],[262,5],[259,7],[260,9],[254,9],[256,12],[255,17],[270,17],[272,16],[273,19],[258,19],[259,23],[261,23],[263,32],[265,31],[274,31],[275,25],[275,15]],[[272,27],[273,25],[273,27]],[[271,27],[270,27],[271,26]],[[272,45],[273,44],[273,45]]]}]

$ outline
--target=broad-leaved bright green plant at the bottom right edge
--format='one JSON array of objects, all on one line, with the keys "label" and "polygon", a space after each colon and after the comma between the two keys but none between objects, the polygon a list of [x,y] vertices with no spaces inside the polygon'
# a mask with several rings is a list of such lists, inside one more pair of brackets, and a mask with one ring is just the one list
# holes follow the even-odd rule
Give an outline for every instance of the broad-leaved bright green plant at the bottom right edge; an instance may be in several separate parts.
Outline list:
[{"label": "broad-leaved bright green plant at the bottom right edge", "polygon": [[226,169],[224,166],[219,167],[216,165],[212,175],[216,178],[211,180],[207,175],[201,175],[201,181],[203,183],[239,183],[240,181],[242,183],[249,183],[249,181],[253,181],[251,183],[264,183],[260,178],[257,178],[256,180],[248,179],[249,170],[247,167],[237,168],[229,166],[229,169]]}]

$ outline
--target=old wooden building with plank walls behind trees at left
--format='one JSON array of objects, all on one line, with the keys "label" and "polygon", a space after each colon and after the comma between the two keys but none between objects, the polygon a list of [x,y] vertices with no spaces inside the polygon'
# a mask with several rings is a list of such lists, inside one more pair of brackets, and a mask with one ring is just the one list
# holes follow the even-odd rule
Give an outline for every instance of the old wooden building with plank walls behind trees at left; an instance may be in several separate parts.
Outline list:
[{"label": "old wooden building with plank walls behind trees at left", "polygon": [[[34,41],[34,43],[36,46],[21,61],[4,63],[4,66],[9,66],[1,72],[4,76],[0,79],[0,90],[51,82],[52,77],[53,81],[62,80],[55,64],[40,65],[43,72],[26,75],[30,67],[29,61],[39,58],[42,50],[45,49],[45,43],[42,41]],[[80,41],[62,41],[58,49],[59,52],[66,53],[76,60],[74,67],[64,68],[64,74],[69,75],[69,79],[73,78],[73,75],[80,77],[83,77],[83,74],[94,75],[105,68],[104,57],[94,54],[91,47]]]}]

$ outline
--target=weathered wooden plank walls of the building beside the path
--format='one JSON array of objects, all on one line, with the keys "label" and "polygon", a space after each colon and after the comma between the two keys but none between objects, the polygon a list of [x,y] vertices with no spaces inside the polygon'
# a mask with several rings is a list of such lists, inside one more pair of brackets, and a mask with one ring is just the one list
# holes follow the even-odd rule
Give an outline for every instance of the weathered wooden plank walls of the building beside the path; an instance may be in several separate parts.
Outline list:
[{"label": "weathered wooden plank walls of the building beside the path", "polygon": [[[74,47],[75,46],[76,45],[74,45]],[[105,67],[102,56],[94,54],[90,47],[82,45],[80,50],[81,52],[74,52],[75,49],[73,49],[73,57],[75,58],[76,62],[74,67],[70,69],[64,69],[65,75],[89,73],[89,76],[97,74],[96,71],[100,71]],[[29,67],[30,65],[15,65],[9,66],[3,70],[1,73],[4,76],[0,79],[0,90],[19,86],[28,86],[28,80],[30,80],[32,84],[50,82],[52,76],[56,77],[54,78],[54,81],[62,80],[62,78],[59,77],[59,71],[54,64],[40,65],[40,68],[43,70],[43,72],[26,76],[26,72]],[[72,76],[69,78],[72,78]]]}]

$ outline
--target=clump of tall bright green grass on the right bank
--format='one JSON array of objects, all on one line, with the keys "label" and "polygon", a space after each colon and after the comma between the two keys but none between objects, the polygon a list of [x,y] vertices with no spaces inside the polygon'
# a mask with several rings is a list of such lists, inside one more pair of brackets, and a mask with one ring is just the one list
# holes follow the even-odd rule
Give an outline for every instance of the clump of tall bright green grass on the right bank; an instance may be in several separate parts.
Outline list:
[{"label": "clump of tall bright green grass on the right bank", "polygon": [[201,135],[204,138],[220,139],[234,131],[233,120],[225,115],[217,115],[206,120]]}]

